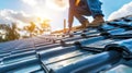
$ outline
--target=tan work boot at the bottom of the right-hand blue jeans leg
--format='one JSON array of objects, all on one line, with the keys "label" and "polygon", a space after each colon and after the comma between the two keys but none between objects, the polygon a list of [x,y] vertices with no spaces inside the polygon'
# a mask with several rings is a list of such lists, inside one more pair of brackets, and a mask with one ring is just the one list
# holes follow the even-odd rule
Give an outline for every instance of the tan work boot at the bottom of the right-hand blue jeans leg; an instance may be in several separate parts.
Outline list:
[{"label": "tan work boot at the bottom of the right-hand blue jeans leg", "polygon": [[95,20],[89,24],[89,27],[97,27],[102,23],[105,23],[103,16],[102,15],[97,15],[95,17]]}]

